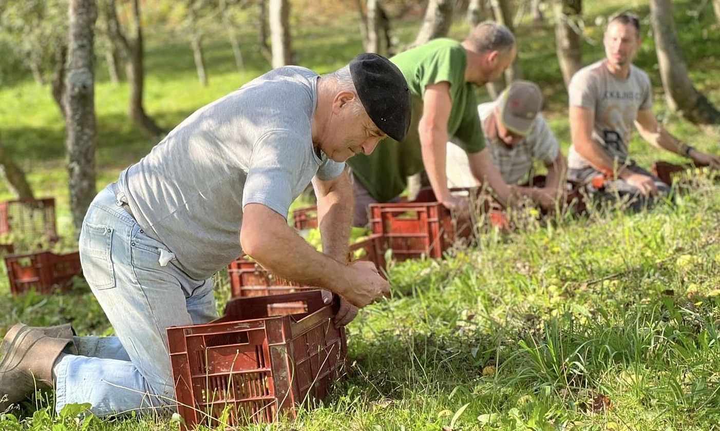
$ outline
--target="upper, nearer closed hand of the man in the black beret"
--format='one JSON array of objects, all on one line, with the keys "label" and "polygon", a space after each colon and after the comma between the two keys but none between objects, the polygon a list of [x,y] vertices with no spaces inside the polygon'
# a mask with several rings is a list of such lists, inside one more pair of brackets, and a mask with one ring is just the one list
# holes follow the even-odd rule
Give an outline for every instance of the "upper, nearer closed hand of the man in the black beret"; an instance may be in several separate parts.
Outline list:
[{"label": "upper, nearer closed hand of the man in the black beret", "polygon": [[347,266],[342,296],[355,307],[365,307],[383,296],[390,297],[390,283],[380,276],[374,263],[359,260]]}]

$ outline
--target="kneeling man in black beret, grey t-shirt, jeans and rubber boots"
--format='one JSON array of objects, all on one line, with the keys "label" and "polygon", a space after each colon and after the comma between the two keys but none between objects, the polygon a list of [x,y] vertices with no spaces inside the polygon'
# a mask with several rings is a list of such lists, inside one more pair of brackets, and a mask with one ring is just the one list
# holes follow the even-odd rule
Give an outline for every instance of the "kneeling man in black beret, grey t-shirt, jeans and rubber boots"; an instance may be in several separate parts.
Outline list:
[{"label": "kneeling man in black beret, grey t-shirt, jeans and rubber boots", "polygon": [[[410,92],[400,70],[362,54],[324,76],[277,68],[198,109],[101,191],[80,234],[84,276],[114,337],[69,328],[8,331],[0,412],[56,390],[56,409],[96,415],[174,407],[166,328],[216,317],[212,276],[246,253],[272,273],[338,294],[336,325],[390,286],[372,263],[348,265],[353,191],[345,160],[402,140]],[[312,180],[323,253],[287,224]]]}]

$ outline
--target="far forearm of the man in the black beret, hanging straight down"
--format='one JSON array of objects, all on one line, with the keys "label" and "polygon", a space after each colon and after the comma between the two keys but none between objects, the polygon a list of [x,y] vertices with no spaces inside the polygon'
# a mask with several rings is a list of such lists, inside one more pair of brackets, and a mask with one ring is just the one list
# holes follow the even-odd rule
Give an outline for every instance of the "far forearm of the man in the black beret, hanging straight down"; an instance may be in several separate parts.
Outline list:
[{"label": "far forearm of the man in the black beret, hanging straight down", "polygon": [[312,178],[315,196],[318,196],[318,222],[323,239],[323,253],[347,263],[348,238],[353,219],[353,187],[348,171],[337,178],[321,181]]}]

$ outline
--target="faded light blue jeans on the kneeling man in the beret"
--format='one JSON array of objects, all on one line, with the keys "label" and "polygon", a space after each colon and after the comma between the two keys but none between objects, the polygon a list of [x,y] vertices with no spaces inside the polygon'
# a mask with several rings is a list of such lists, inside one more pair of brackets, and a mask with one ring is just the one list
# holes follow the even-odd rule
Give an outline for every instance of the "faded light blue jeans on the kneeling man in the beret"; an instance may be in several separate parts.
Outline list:
[{"label": "faded light blue jeans on the kneeling man in the beret", "polygon": [[84,276],[117,337],[77,337],[79,355],[55,364],[56,409],[90,403],[99,416],[174,408],[166,329],[217,317],[212,279],[194,280],[163,262],[110,187],[94,199],[80,233]]}]

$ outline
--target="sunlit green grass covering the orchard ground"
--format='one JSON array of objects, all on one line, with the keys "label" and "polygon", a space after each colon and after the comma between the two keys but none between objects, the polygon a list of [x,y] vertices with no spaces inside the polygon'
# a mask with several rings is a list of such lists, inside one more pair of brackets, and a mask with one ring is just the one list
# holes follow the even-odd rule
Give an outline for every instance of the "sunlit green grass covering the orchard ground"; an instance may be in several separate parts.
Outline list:
[{"label": "sunlit green grass covering the orchard ground", "polygon": [[[586,3],[584,58],[602,57],[595,17],[641,1]],[[678,35],[698,89],[720,105],[720,45],[712,43],[709,7],[696,19],[675,1]],[[296,30],[301,65],[319,72],[361,50],[354,16]],[[647,29],[647,19],[644,20]],[[418,19],[397,23],[402,42]],[[451,29],[462,37],[461,19]],[[254,41],[250,30],[243,41]],[[546,96],[551,126],[569,145],[567,95],[559,78],[549,24],[518,29],[525,78]],[[595,45],[593,45],[595,44]],[[248,71],[235,73],[224,40],[210,40],[210,86],[199,86],[186,44],[148,31],[145,104],[170,129],[199,106],[263,73],[255,45],[244,53]],[[719,133],[698,130],[667,111],[652,37],[637,63],[652,78],[655,109],[670,130],[693,145],[720,151]],[[114,87],[98,68],[98,187],[152,148],[127,119],[127,86]],[[481,97],[487,97],[484,91]],[[63,124],[47,87],[21,81],[0,89],[2,138],[38,195],[56,196],[60,233],[71,238]],[[678,158],[635,137],[642,165]],[[0,186],[1,187],[1,186]],[[0,198],[9,197],[0,189]],[[441,261],[392,265],[393,297],[363,309],[348,327],[348,375],[322,403],[303,406],[297,419],[256,430],[709,430],[720,423],[720,193],[699,181],[642,214],[598,209],[510,235],[490,232],[477,248]],[[75,248],[72,240],[58,250]],[[3,267],[3,266],[0,266]],[[4,267],[3,267],[4,268]],[[4,271],[4,270],[2,270]],[[69,294],[10,296],[0,274],[0,333],[15,322],[73,322],[81,335],[111,334],[102,309],[83,281]],[[228,299],[217,276],[217,299]],[[607,398],[605,398],[607,397]],[[609,400],[604,401],[603,400]],[[76,420],[81,407],[52,413],[53,399],[28,402],[0,430],[167,430],[167,418]],[[607,408],[603,408],[607,407]],[[222,429],[222,428],[221,428]]]}]

